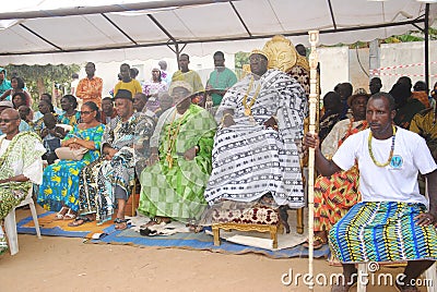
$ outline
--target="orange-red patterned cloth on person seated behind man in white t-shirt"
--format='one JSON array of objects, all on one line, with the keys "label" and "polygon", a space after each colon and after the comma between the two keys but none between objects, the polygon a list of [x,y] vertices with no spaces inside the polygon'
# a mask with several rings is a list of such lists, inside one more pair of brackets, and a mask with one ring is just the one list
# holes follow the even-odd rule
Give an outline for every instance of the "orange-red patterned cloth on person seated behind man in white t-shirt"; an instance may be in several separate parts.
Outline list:
[{"label": "orange-red patterned cloth on person seated behind man in white t-shirt", "polygon": [[[343,126],[346,122],[349,123],[347,127]],[[332,129],[334,132],[331,132],[328,136],[330,138],[331,136],[340,136],[338,146],[334,148],[338,149],[349,136],[364,129],[367,129],[366,121],[343,120],[339,122],[339,126]],[[331,177],[319,175],[316,179],[314,194],[315,231],[330,230],[352,206],[359,202],[358,180],[359,171],[356,166],[346,171],[335,172]]]}]

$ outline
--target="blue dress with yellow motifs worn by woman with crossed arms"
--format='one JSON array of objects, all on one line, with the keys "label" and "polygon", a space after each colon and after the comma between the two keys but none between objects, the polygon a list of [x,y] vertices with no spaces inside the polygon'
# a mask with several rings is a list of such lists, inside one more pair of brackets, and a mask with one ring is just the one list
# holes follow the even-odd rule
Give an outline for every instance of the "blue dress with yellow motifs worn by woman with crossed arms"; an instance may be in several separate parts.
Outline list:
[{"label": "blue dress with yellow motifs worn by woman with crossed arms", "polygon": [[63,141],[79,137],[92,141],[95,150],[88,150],[82,160],[59,160],[44,170],[43,184],[39,187],[37,202],[46,210],[59,211],[62,206],[79,209],[79,177],[81,170],[96,160],[99,156],[102,135],[105,125],[99,124],[90,129],[81,130],[74,125]]}]

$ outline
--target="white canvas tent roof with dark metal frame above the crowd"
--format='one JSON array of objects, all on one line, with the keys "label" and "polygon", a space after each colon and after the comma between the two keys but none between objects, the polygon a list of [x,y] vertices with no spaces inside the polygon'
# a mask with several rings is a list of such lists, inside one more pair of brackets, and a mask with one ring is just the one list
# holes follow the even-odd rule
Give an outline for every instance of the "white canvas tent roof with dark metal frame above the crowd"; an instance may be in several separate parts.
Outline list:
[{"label": "white canvas tent roof with dark metal frame above the crowd", "polygon": [[[320,31],[323,45],[351,44],[423,27],[425,13],[417,0],[15,2],[0,10],[3,64],[174,58],[176,48],[232,53],[262,47],[275,34],[308,45],[311,29]],[[429,15],[437,15],[437,4]]]}]

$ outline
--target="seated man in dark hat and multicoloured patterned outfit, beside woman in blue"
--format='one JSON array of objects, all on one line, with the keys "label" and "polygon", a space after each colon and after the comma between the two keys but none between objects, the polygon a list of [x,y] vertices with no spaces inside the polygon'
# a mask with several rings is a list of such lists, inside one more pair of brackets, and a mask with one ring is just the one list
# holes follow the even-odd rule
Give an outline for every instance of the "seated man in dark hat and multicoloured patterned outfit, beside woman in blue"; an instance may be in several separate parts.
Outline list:
[{"label": "seated man in dark hat and multicoloured patterned outfit, beside woman in blue", "polygon": [[125,206],[134,183],[133,138],[141,113],[133,112],[129,90],[119,89],[115,104],[118,115],[106,125],[102,156],[82,171],[79,187],[81,216],[69,224],[71,227],[92,220],[102,224],[110,220],[118,208],[114,220],[116,229],[128,228]]}]

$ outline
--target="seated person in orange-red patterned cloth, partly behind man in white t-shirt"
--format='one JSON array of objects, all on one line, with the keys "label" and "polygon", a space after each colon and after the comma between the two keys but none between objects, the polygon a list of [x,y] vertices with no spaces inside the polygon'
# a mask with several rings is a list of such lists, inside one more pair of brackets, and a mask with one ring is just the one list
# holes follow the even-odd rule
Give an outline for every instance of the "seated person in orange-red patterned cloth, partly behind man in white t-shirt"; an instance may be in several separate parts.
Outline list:
[{"label": "seated person in orange-red patterned cloth, partly behind man in white t-shirt", "polygon": [[[351,135],[367,129],[366,105],[369,96],[363,88],[347,98],[352,117],[338,122],[321,144],[322,154],[331,158]],[[314,248],[328,243],[329,230],[359,200],[358,167],[339,171],[331,177],[319,177],[315,182]],[[306,243],[305,246],[308,246]]]}]

